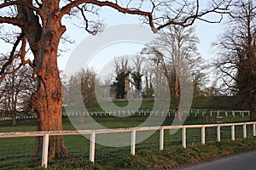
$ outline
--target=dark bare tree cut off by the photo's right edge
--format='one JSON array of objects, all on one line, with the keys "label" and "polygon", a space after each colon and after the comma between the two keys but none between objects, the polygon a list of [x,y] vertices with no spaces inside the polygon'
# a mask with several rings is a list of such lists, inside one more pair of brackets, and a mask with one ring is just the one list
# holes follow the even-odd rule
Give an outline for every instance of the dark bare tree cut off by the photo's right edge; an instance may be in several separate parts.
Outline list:
[{"label": "dark bare tree cut off by the photo's right edge", "polygon": [[[256,3],[236,1],[225,33],[215,43],[219,84],[230,94],[241,96],[256,120]],[[221,83],[220,83],[221,82]]]}]

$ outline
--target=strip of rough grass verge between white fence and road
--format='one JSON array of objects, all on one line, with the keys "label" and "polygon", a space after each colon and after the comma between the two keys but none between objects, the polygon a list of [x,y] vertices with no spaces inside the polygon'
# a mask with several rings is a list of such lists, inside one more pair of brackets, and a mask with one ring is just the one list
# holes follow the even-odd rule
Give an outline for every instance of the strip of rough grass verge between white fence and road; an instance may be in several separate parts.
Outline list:
[{"label": "strip of rough grass verge between white fence and road", "polygon": [[[205,145],[190,145],[188,148],[174,147],[166,150],[142,150],[136,156],[125,155],[104,164],[92,164],[90,161],[66,161],[51,165],[49,170],[164,170],[183,167],[202,161],[212,161],[256,149],[256,139],[209,142]],[[28,168],[26,168],[28,170]],[[37,169],[37,168],[34,168]],[[41,168],[38,168],[41,169]]]}]

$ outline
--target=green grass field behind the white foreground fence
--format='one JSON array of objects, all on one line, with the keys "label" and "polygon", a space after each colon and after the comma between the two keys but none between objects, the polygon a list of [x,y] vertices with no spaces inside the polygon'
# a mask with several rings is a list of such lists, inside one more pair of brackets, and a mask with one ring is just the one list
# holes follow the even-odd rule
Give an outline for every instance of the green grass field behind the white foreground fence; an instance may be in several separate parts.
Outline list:
[{"label": "green grass field behind the white foreground fence", "polygon": [[[211,99],[208,99],[209,101]],[[206,99],[195,99],[193,101],[192,108],[199,108],[198,105],[201,103],[200,109],[206,109],[209,105],[212,105],[211,102],[206,102]],[[227,104],[227,101],[225,101]],[[119,105],[120,107],[125,107],[127,102],[125,101],[115,101],[115,105]],[[140,110],[150,110],[154,105],[154,101],[146,100],[143,101],[140,106]],[[171,106],[172,107],[172,106]],[[231,108],[231,107],[230,107]],[[229,108],[229,109],[230,109]],[[219,107],[215,106],[213,109],[224,109],[222,105]],[[100,109],[95,106],[91,108],[91,111],[99,111]],[[214,113],[216,114],[216,113]],[[216,115],[212,116],[216,116]],[[148,114],[138,115],[135,114],[133,116],[127,117],[119,117],[119,116],[93,116],[93,119],[101,124],[104,127],[108,128],[118,128],[118,127],[137,127],[142,124],[147,118]],[[160,115],[158,115],[160,116]],[[220,113],[220,116],[223,116],[223,122],[248,122],[249,116],[225,116],[224,112]],[[154,117],[154,116],[153,116]],[[156,116],[155,116],[156,117]],[[187,117],[184,124],[206,124],[207,117],[209,115],[199,114],[195,116],[195,114]],[[166,116],[162,126],[170,126],[172,124],[174,116]],[[86,122],[86,116],[76,116],[74,118],[77,122]],[[154,119],[153,119],[154,120]],[[73,124],[69,121],[67,116],[63,116],[62,119],[63,130],[75,130]],[[247,136],[252,136],[253,127],[247,127]],[[28,132],[28,131],[36,131],[37,123],[35,120],[18,120],[18,125],[13,127],[11,126],[11,121],[0,122],[0,133],[8,133],[8,132]],[[230,127],[224,127],[222,129],[222,140],[230,140]],[[143,136],[147,135],[145,132],[137,133],[137,140],[142,139]],[[119,139],[119,134],[113,136],[108,136],[104,134],[96,135],[97,140],[104,139],[105,142],[108,143],[108,139],[117,138],[116,140],[127,141],[128,143],[131,141],[131,133],[126,133],[122,139]],[[242,127],[236,127],[236,139],[242,138]],[[70,155],[73,156],[73,159],[77,158],[78,160],[88,160],[89,159],[89,150],[90,150],[90,136],[82,136],[82,135],[68,135],[64,136],[65,143],[67,145],[67,149],[69,150]],[[136,146],[136,151],[140,152],[142,150],[158,150],[159,149],[159,139],[160,132],[156,131],[150,135],[147,139],[139,142]],[[26,165],[27,159],[31,156],[32,150],[34,148],[36,138],[34,137],[22,137],[22,138],[10,138],[10,139],[0,139],[0,169],[20,169],[20,167],[29,166]],[[216,141],[216,133],[214,133],[214,129],[207,129],[206,141],[212,142]],[[169,130],[165,131],[165,144],[164,148],[173,148],[180,147],[182,144],[182,133],[181,130],[178,130],[177,133],[170,134]],[[109,141],[110,143],[110,141]],[[187,129],[187,143],[191,145],[201,144],[201,129]],[[111,145],[111,144],[110,144]],[[129,155],[130,146],[125,147],[110,147],[104,144],[96,144],[96,162],[103,163],[106,161],[116,160],[120,156]],[[38,160],[41,158],[38,157]],[[61,160],[58,160],[61,161]],[[49,165],[56,163],[58,161],[49,162]],[[37,166],[39,164],[36,164]]]}]

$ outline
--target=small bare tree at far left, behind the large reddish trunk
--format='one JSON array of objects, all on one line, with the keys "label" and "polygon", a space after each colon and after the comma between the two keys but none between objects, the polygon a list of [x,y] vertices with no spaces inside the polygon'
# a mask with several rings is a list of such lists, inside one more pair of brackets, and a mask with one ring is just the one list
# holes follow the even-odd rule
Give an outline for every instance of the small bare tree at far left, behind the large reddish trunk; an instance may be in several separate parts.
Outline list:
[{"label": "small bare tree at far left, behind the large reddish trunk", "polygon": [[[2,60],[6,59],[4,56]],[[16,65],[10,65],[12,70]],[[32,69],[21,66],[15,74],[7,75],[0,80],[0,115],[10,116],[12,125],[16,126],[16,116],[27,113],[31,107],[31,94],[36,90],[32,80]]]}]

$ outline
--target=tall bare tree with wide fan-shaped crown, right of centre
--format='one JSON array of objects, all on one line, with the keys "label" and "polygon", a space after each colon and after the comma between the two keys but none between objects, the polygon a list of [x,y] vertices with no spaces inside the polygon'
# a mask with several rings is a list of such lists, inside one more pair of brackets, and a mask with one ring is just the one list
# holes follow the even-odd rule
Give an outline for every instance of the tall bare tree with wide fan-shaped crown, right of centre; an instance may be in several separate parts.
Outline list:
[{"label": "tall bare tree with wide fan-shaped crown, right of centre", "polygon": [[[171,94],[176,98],[179,105],[180,88],[183,75],[186,71],[191,72],[191,77],[201,76],[201,56],[197,51],[198,37],[195,36],[194,27],[184,28],[182,26],[168,26],[160,31],[159,37],[143,48],[143,54],[147,54],[155,65],[160,65],[163,71]],[[194,75],[192,75],[192,73]],[[179,116],[181,121],[181,116]]]}]

